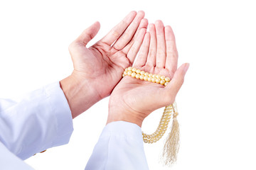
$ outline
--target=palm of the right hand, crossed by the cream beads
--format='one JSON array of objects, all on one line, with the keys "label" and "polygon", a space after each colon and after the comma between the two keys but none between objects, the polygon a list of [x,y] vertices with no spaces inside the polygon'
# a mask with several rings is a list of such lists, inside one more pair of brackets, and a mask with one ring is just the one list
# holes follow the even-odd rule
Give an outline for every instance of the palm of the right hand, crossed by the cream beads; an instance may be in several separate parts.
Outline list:
[{"label": "palm of the right hand, crossed by the cream beads", "polygon": [[[169,70],[164,68],[156,68],[151,66],[136,67],[137,69],[144,70],[152,74],[161,74],[166,77],[172,78],[174,75]],[[166,103],[159,102],[161,92],[164,86],[161,84],[152,83],[149,81],[134,79],[132,77],[124,77],[119,84],[114,88],[112,95],[110,97],[111,103],[124,103],[126,109],[131,109],[134,112],[141,112],[144,115],[149,115],[152,111],[159,107],[166,106]],[[146,98],[151,98],[146,100]],[[169,101],[170,103],[172,101]],[[139,105],[134,105],[134,103],[139,103]],[[123,108],[122,108],[123,110]]]}]

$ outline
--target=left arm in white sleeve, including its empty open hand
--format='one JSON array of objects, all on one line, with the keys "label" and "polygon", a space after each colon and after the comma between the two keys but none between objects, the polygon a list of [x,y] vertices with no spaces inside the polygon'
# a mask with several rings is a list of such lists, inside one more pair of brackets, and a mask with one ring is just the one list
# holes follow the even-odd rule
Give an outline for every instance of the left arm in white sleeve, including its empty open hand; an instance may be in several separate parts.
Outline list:
[{"label": "left arm in white sleeve, including its empty open hand", "polygon": [[74,65],[69,77],[19,101],[1,100],[0,141],[7,149],[26,159],[68,143],[72,118],[110,95],[121,79],[119,72],[133,63],[132,52],[139,50],[147,26],[143,18],[142,11],[129,13],[102,40],[87,48],[100,29],[100,24],[94,23],[69,47]]}]

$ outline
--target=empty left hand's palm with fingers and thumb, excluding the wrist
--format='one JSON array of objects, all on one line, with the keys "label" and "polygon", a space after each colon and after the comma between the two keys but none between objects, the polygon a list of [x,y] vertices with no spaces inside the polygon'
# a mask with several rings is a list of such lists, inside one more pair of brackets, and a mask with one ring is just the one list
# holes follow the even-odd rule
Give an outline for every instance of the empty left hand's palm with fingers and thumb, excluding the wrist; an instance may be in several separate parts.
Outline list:
[{"label": "empty left hand's palm with fingers and thumb, excluding the wrist", "polygon": [[[90,86],[95,88],[101,98],[110,95],[122,78],[120,75],[124,68],[133,63],[133,53],[137,53],[142,44],[147,21],[142,19],[142,12],[135,16],[136,13],[130,13],[102,40],[87,48],[88,39],[92,39],[100,29],[99,23],[95,23],[80,35],[82,38],[78,38],[71,45],[74,74],[90,80]],[[90,32],[89,38],[87,32]]]}]

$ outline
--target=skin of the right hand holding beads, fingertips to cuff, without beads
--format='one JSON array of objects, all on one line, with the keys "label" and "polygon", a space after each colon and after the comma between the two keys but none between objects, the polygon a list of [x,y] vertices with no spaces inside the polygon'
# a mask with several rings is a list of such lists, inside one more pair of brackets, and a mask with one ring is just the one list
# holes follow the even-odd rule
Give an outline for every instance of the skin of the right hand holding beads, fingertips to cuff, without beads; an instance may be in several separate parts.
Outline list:
[{"label": "skin of the right hand holding beads, fingertips to cuff, without beads", "polygon": [[124,120],[140,127],[149,113],[174,103],[176,94],[183,84],[189,64],[177,69],[178,52],[174,33],[170,26],[161,21],[149,25],[142,48],[134,67],[152,74],[161,74],[171,81],[167,86],[124,77],[110,96],[107,123]]}]

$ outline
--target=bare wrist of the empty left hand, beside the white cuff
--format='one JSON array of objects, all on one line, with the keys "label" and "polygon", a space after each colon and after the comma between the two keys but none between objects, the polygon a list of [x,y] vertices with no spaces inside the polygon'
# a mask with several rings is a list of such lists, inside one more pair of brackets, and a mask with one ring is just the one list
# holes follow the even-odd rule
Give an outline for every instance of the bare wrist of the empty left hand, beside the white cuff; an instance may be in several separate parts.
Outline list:
[{"label": "bare wrist of the empty left hand, beside the white cuff", "polygon": [[65,94],[73,118],[85,112],[101,99],[97,91],[92,88],[90,80],[81,79],[74,72],[60,81],[60,88]]}]

